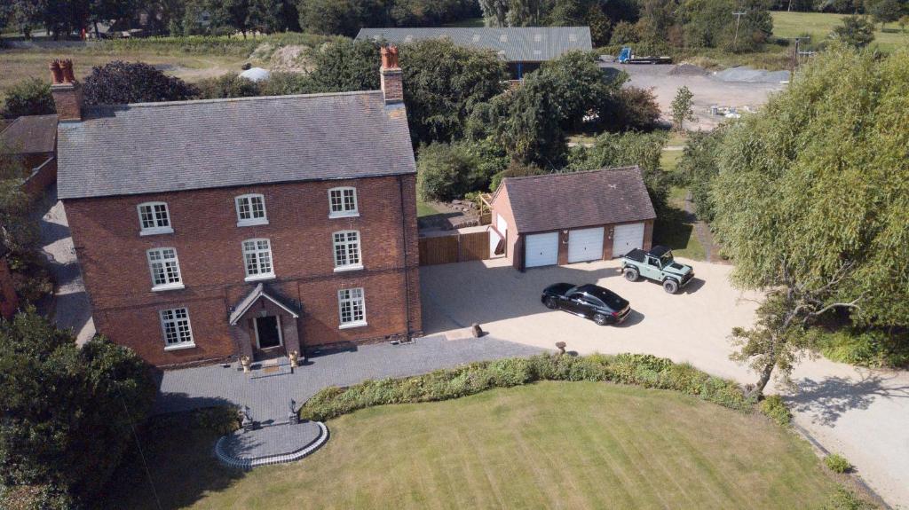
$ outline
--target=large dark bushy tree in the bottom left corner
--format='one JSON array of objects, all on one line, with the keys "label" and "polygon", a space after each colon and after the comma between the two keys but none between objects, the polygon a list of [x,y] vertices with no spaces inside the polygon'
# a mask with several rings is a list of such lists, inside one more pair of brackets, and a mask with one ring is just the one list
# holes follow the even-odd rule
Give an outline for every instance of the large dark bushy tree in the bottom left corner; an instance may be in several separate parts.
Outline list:
[{"label": "large dark bushy tree in the bottom left corner", "polygon": [[84,501],[155,400],[149,367],[133,351],[104,338],[79,348],[34,309],[0,321],[0,387],[0,485],[50,485]]}]

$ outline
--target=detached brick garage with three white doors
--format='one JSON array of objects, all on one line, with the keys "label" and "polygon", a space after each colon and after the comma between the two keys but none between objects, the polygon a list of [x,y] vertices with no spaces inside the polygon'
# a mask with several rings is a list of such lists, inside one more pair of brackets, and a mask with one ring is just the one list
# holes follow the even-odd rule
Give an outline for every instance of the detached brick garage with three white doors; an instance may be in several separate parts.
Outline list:
[{"label": "detached brick garage with three white doors", "polygon": [[517,270],[649,250],[656,212],[637,166],[505,178],[490,201],[490,244]]}]

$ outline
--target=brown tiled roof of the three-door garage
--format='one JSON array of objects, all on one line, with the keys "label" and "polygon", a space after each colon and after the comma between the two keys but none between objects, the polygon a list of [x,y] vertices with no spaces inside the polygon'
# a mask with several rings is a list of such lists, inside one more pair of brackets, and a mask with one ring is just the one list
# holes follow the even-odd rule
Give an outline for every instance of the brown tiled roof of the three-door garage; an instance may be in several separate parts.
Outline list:
[{"label": "brown tiled roof of the three-door garage", "polygon": [[656,218],[637,166],[508,177],[502,186],[520,233]]}]

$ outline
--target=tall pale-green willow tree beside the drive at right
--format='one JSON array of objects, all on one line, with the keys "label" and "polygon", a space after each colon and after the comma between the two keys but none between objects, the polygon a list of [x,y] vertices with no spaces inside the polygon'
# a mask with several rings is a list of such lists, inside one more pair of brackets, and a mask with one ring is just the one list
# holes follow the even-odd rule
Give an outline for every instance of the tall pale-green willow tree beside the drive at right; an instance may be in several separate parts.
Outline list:
[{"label": "tall pale-green willow tree beside the drive at right", "polygon": [[832,314],[909,322],[907,91],[909,51],[878,60],[836,46],[725,134],[714,230],[734,283],[770,293],[758,324],[734,331],[756,392]]}]

